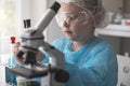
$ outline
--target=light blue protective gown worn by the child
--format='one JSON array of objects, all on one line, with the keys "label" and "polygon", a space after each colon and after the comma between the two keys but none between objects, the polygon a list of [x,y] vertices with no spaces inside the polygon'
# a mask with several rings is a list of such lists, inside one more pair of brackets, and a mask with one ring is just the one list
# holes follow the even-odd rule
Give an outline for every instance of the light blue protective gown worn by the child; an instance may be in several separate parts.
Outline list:
[{"label": "light blue protective gown worn by the child", "polygon": [[[52,45],[65,55],[65,69],[70,75],[66,86],[117,85],[117,57],[106,41],[93,38],[77,52],[72,51],[72,41],[64,37]],[[48,57],[42,62],[47,61]]]}]

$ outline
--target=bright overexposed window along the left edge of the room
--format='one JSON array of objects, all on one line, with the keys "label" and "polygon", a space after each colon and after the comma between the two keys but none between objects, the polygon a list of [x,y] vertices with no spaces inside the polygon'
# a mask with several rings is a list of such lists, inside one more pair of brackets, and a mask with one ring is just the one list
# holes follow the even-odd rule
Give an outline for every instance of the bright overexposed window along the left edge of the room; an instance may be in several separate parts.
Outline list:
[{"label": "bright overexposed window along the left edge of the room", "polygon": [[10,37],[16,34],[16,0],[0,0],[0,63],[10,56]]}]

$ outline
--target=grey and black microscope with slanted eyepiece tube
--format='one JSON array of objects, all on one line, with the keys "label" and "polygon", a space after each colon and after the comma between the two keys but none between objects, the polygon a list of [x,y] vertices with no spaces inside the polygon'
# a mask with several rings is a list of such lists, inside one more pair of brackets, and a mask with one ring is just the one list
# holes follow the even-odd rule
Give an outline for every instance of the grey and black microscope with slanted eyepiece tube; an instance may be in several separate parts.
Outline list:
[{"label": "grey and black microscope with slanted eyepiece tube", "polygon": [[[60,3],[54,2],[52,6],[47,10],[37,25],[22,34],[22,46],[20,47],[17,57],[20,59],[24,57],[24,61],[20,67],[11,68],[10,71],[12,73],[28,80],[43,77],[43,80],[47,80],[48,82],[41,81],[42,86],[65,86],[65,83],[69,78],[69,74],[64,70],[64,54],[51,44],[44,42],[44,37],[42,34],[60,8]],[[41,51],[39,48],[42,48],[50,56],[48,64],[40,64],[36,60],[38,51]]]}]

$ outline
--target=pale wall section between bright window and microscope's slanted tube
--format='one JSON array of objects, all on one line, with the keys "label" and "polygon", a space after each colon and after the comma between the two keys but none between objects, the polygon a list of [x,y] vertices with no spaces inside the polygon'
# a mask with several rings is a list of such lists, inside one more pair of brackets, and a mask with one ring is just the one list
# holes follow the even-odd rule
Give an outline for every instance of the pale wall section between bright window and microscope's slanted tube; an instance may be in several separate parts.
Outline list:
[{"label": "pale wall section between bright window and microscope's slanted tube", "polygon": [[18,23],[17,34],[24,30],[24,19],[30,18],[34,27],[47,10],[47,0],[18,0]]}]

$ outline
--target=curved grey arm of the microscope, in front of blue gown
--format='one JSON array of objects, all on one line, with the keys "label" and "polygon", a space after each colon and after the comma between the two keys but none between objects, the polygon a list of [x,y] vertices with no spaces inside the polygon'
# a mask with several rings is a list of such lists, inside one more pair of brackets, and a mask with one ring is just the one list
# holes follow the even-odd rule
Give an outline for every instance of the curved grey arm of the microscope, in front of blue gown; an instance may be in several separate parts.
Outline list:
[{"label": "curved grey arm of the microscope, in front of blue gown", "polygon": [[43,51],[50,56],[50,63],[52,67],[56,67],[58,69],[64,69],[65,59],[64,54],[56,49],[54,46],[50,45],[49,43],[44,42],[41,46]]}]

